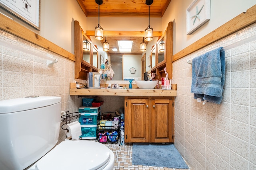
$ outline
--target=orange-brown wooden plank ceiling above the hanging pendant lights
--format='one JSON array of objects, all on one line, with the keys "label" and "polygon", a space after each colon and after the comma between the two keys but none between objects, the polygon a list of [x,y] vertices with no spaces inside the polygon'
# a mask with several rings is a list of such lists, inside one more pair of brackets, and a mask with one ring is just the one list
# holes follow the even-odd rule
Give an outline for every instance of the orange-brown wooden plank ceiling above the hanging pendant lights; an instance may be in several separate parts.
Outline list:
[{"label": "orange-brown wooden plank ceiling above the hanging pendant lights", "polygon": [[[95,0],[77,0],[85,16],[98,16],[98,4]],[[171,0],[153,0],[150,5],[150,17],[162,17]],[[146,0],[103,0],[100,5],[102,17],[147,17]]]}]

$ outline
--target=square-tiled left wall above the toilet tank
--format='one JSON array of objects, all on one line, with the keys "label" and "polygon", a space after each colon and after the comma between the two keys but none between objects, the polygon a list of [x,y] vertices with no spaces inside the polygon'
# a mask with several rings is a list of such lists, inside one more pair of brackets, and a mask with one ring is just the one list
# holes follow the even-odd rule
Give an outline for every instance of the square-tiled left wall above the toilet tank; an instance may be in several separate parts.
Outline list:
[{"label": "square-tiled left wall above the toilet tank", "polygon": [[[58,59],[52,67],[46,59],[0,45],[0,100],[22,98],[30,95],[60,96],[62,111],[78,111],[81,98],[69,95],[69,83],[75,82],[74,62],[32,43],[0,30],[0,41],[35,51]],[[84,80],[77,80],[84,83]],[[60,131],[59,141],[65,139]]]}]

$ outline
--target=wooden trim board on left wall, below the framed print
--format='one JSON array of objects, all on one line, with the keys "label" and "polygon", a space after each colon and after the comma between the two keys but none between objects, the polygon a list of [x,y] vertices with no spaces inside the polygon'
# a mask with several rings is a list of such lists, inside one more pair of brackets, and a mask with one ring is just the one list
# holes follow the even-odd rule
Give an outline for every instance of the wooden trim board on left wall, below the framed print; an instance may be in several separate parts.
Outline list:
[{"label": "wooden trim board on left wall, below the framed print", "polygon": [[74,54],[62,49],[58,45],[52,43],[51,41],[48,41],[37,33],[30,31],[30,29],[27,29],[19,23],[16,23],[15,21],[4,16],[3,14],[0,14],[0,29],[16,35],[17,37],[20,37],[22,39],[25,39],[26,41],[29,41],[30,43],[38,45],[44,49],[52,51],[53,53],[61,55],[62,57],[75,61]]}]

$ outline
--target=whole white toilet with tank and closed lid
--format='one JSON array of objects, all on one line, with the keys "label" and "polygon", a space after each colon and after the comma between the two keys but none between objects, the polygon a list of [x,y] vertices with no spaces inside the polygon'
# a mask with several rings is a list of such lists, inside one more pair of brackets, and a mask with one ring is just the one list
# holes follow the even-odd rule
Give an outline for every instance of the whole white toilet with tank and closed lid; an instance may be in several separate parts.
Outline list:
[{"label": "whole white toilet with tank and closed lid", "polygon": [[60,132],[61,98],[28,96],[0,101],[1,170],[113,170],[114,153],[95,141]]}]

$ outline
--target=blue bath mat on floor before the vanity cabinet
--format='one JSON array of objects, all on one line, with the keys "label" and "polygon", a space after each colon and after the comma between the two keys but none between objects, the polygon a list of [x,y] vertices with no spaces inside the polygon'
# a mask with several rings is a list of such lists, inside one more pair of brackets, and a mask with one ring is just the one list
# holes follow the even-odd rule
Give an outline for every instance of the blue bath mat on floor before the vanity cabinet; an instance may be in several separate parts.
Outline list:
[{"label": "blue bath mat on floor before the vanity cabinet", "polygon": [[132,164],[188,169],[173,144],[134,143],[132,145]]}]

